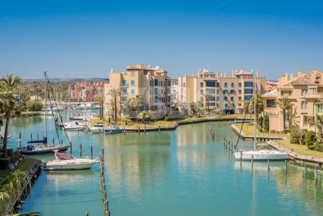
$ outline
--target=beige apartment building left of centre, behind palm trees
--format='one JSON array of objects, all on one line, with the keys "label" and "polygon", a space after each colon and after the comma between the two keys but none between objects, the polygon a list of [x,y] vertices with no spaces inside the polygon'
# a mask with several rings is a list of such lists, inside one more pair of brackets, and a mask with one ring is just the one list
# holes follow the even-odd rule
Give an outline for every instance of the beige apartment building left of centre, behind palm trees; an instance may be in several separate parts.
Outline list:
[{"label": "beige apartment building left of centre, behind palm trees", "polygon": [[104,104],[110,102],[109,90],[119,89],[119,112],[122,112],[124,102],[136,95],[141,95],[143,109],[165,112],[166,107],[170,107],[170,86],[168,72],[158,66],[152,68],[150,65],[127,65],[126,70],[121,72],[111,69],[109,82],[104,85]]}]

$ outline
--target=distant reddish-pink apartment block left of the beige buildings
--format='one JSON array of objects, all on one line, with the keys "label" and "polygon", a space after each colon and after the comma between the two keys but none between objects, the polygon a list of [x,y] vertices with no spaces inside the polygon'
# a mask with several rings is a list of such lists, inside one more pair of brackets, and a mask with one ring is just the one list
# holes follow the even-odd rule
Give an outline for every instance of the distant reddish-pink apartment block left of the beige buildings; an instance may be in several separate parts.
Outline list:
[{"label": "distant reddish-pink apartment block left of the beige buildings", "polygon": [[82,101],[94,100],[104,92],[104,82],[76,82],[71,87],[71,99]]}]

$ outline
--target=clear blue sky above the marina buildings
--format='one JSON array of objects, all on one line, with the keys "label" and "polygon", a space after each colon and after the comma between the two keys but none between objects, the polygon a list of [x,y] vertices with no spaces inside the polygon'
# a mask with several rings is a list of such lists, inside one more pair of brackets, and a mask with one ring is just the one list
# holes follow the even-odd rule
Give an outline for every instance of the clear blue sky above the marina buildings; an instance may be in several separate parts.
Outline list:
[{"label": "clear blue sky above the marina buildings", "polygon": [[0,77],[323,70],[323,1],[0,0]]}]

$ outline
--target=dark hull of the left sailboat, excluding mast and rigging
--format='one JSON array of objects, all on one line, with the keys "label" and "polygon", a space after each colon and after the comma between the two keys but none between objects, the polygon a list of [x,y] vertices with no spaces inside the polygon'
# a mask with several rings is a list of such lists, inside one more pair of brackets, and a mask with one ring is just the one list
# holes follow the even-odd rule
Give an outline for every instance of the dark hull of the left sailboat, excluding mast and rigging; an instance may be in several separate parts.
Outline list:
[{"label": "dark hull of the left sailboat, excluding mast and rigging", "polygon": [[43,154],[51,154],[54,151],[67,151],[70,146],[33,146],[28,145],[26,147],[18,148],[18,152],[24,155],[43,155]]}]

